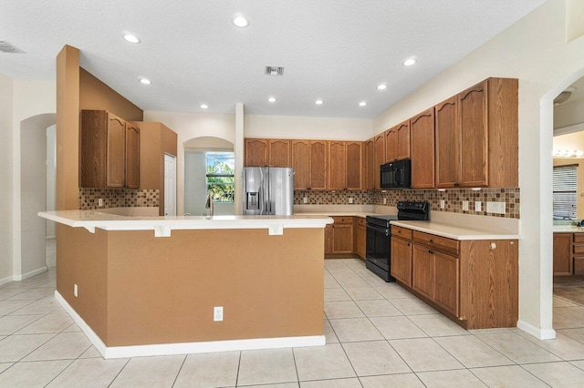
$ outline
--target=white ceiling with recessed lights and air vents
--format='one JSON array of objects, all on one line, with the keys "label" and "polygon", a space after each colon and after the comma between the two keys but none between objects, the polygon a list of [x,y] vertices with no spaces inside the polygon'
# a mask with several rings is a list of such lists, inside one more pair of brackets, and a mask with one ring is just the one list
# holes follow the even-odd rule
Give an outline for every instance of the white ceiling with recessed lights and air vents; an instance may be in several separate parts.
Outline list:
[{"label": "white ceiling with recessed lights and air vents", "polygon": [[[54,79],[70,45],[145,110],[233,113],[243,102],[246,114],[372,118],[544,1],[0,0],[0,40],[26,52],[0,53],[0,73]],[[250,26],[235,27],[237,14]],[[418,63],[401,66],[410,56]]]}]

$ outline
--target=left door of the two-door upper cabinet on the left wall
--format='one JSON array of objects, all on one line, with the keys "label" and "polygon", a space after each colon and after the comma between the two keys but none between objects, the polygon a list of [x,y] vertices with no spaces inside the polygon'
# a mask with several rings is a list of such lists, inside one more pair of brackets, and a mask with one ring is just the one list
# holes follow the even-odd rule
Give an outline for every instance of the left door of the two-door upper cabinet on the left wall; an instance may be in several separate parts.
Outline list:
[{"label": "left door of the two-door upper cabinet on the left wall", "polygon": [[125,184],[126,122],[108,113],[106,151],[106,186],[123,188]]}]

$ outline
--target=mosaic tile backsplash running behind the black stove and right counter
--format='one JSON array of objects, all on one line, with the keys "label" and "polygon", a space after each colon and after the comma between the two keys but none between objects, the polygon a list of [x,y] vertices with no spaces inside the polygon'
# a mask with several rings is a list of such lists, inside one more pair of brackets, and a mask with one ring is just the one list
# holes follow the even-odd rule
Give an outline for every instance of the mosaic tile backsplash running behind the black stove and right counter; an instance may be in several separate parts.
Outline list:
[{"label": "mosaic tile backsplash running behind the black stove and right counter", "polygon": [[[304,199],[307,202],[304,202]],[[519,189],[446,189],[428,190],[387,190],[387,191],[294,191],[295,205],[349,205],[349,199],[355,205],[396,206],[398,200],[427,200],[433,211],[476,214],[482,216],[519,218]],[[383,203],[386,199],[386,203]],[[444,201],[444,209],[440,202]],[[463,201],[468,201],[468,210],[463,210]],[[474,202],[481,201],[482,209],[476,211]],[[504,202],[505,214],[486,211],[486,202]]]}]

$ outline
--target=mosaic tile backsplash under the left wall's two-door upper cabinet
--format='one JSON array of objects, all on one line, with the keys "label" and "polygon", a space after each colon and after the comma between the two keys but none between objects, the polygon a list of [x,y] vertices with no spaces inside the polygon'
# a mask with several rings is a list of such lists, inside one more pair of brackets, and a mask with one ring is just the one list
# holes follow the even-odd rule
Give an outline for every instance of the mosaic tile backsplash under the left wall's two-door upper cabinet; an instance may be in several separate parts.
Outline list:
[{"label": "mosaic tile backsplash under the left wall's two-door upper cabinet", "polygon": [[159,189],[79,189],[79,209],[158,207],[160,197]]}]

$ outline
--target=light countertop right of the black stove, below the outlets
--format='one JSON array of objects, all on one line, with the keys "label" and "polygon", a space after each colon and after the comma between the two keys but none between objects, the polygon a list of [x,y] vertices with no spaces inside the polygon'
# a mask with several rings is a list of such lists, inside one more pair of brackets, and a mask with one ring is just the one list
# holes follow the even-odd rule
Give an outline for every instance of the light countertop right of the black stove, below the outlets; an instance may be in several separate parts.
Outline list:
[{"label": "light countertop right of the black stove, below the outlets", "polygon": [[460,225],[435,221],[392,220],[391,225],[431,233],[454,240],[517,240],[520,237],[518,234],[501,233],[497,230],[467,228]]}]

